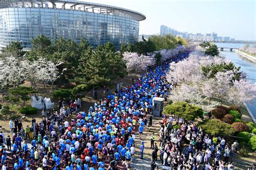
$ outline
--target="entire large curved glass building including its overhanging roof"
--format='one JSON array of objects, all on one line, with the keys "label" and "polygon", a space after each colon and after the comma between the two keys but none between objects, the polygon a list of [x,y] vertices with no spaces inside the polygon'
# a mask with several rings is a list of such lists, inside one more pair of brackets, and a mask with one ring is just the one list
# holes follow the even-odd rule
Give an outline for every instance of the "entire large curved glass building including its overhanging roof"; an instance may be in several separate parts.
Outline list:
[{"label": "entire large curved glass building including its overhanging roof", "polygon": [[77,0],[0,1],[0,47],[19,41],[31,48],[31,38],[44,34],[51,40],[64,37],[93,47],[106,42],[120,44],[138,41],[139,12],[110,5]]}]

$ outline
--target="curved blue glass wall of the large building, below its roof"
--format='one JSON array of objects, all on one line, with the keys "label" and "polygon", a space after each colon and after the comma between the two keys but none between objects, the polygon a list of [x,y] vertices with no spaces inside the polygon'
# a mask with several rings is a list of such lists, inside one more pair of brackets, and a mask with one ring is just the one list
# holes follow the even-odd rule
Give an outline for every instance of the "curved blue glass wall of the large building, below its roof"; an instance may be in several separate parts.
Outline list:
[{"label": "curved blue glass wall of the large building, below its roof", "polygon": [[0,46],[12,41],[31,48],[31,38],[44,34],[51,40],[63,37],[93,47],[106,42],[120,44],[138,41],[139,22],[130,18],[76,10],[47,8],[0,9]]}]

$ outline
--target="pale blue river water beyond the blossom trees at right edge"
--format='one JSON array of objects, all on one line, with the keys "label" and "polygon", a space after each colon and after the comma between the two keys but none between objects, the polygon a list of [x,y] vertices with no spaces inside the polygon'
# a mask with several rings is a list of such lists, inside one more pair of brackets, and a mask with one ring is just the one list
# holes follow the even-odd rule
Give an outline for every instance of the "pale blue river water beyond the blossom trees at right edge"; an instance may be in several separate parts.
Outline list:
[{"label": "pale blue river water beyond the blossom trees at right edge", "polygon": [[[245,46],[245,44],[230,44],[230,43],[215,43],[218,47],[234,47],[239,48]],[[250,44],[252,46],[252,44]],[[256,83],[256,63],[247,60],[236,52],[230,52],[230,49],[224,49],[226,51],[221,51],[220,54],[225,56],[227,60],[230,60],[234,63],[235,66],[240,66],[241,70],[247,74],[247,79],[251,83]],[[252,112],[252,115],[256,119],[256,100],[252,105],[247,104],[247,107]]]}]

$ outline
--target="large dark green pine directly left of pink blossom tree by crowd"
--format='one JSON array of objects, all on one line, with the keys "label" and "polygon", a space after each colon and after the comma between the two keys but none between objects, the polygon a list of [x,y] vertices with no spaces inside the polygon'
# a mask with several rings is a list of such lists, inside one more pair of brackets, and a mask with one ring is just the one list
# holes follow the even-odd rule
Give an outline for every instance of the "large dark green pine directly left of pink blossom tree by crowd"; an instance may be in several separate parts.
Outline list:
[{"label": "large dark green pine directly left of pink blossom tree by crowd", "polygon": [[126,75],[125,62],[110,42],[99,45],[95,50],[90,48],[86,52],[80,59],[79,68],[93,87],[109,85],[114,78]]}]

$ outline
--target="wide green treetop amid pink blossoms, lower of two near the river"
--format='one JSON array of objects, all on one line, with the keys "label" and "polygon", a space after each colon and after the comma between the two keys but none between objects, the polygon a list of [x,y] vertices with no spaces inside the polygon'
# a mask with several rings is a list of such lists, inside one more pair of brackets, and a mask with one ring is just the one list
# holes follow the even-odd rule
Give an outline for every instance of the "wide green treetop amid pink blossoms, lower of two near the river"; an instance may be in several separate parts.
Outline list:
[{"label": "wide green treetop amid pink blossoms, lower of two near the river", "polygon": [[207,76],[208,79],[214,78],[215,75],[219,72],[227,72],[232,70],[235,73],[233,80],[240,80],[241,79],[240,68],[241,68],[240,66],[235,67],[233,62],[230,62],[230,63],[222,62],[215,65],[205,66],[205,67],[202,67],[201,69],[203,71],[204,76]]}]

